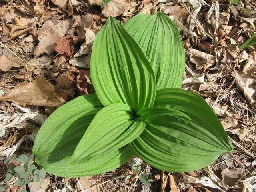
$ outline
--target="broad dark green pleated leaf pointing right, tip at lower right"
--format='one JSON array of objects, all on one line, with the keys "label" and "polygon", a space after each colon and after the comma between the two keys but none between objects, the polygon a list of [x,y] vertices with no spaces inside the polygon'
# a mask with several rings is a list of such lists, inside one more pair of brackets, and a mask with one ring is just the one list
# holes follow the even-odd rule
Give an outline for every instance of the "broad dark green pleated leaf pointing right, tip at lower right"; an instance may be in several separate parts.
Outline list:
[{"label": "broad dark green pleated leaf pointing right, tip at lower right", "polygon": [[188,172],[234,150],[214,112],[204,99],[192,92],[158,90],[154,107],[142,109],[138,114],[142,114],[147,125],[131,143],[132,149],[158,169]]}]

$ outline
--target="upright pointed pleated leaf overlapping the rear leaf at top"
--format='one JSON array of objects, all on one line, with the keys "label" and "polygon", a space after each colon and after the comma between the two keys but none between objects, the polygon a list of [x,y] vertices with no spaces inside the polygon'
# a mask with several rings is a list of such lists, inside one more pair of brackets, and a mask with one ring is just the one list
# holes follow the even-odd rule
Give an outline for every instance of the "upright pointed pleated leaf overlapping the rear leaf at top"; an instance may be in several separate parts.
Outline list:
[{"label": "upright pointed pleated leaf overlapping the rear leaf at top", "polygon": [[132,111],[154,103],[156,80],[145,54],[110,16],[92,48],[90,76],[100,102],[128,104]]}]

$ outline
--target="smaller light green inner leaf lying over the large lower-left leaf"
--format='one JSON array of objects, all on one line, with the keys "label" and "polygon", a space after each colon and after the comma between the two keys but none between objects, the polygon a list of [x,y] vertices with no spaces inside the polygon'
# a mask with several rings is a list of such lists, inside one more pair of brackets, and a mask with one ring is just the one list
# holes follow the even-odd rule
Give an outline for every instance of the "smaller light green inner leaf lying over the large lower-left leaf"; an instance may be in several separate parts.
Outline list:
[{"label": "smaller light green inner leaf lying over the large lower-left leaf", "polygon": [[144,122],[134,120],[128,105],[116,103],[106,106],[96,114],[87,128],[71,163],[117,150],[137,138],[145,126]]}]

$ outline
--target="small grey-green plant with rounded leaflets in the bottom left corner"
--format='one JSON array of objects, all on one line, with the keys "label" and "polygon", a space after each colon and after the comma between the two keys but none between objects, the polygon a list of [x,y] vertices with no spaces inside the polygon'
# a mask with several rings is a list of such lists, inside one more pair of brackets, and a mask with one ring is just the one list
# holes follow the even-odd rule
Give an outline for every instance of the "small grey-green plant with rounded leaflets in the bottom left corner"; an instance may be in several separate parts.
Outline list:
[{"label": "small grey-green plant with rounded leaflets in the bottom left corner", "polygon": [[[7,166],[5,174],[5,182],[9,182],[12,178],[17,177],[14,184],[16,186],[24,186],[30,183],[30,178],[37,182],[45,177],[46,171],[44,169],[38,170],[34,165],[34,156],[28,157],[27,155],[10,156],[6,158],[4,164]],[[17,165],[20,162],[20,165]]]}]

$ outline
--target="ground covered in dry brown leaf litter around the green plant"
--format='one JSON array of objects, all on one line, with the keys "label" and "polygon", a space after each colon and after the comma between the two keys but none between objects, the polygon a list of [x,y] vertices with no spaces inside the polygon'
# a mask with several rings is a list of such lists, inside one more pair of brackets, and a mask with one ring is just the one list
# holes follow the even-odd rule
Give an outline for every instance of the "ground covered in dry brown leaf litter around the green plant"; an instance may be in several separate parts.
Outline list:
[{"label": "ground covered in dry brown leaf litter around the green plant", "polygon": [[[162,172],[135,158],[94,177],[46,174],[25,186],[15,184],[17,176],[6,181],[6,160],[31,157],[46,118],[65,102],[94,92],[90,54],[107,17],[123,24],[157,11],[170,16],[182,35],[182,88],[208,102],[234,152],[194,172]],[[255,29],[255,0],[111,0],[103,8],[100,0],[1,0],[0,185],[10,192],[256,191],[256,49],[239,48]]]}]

